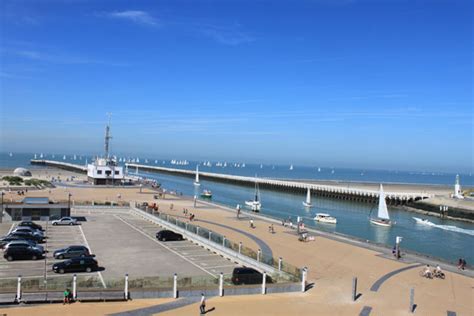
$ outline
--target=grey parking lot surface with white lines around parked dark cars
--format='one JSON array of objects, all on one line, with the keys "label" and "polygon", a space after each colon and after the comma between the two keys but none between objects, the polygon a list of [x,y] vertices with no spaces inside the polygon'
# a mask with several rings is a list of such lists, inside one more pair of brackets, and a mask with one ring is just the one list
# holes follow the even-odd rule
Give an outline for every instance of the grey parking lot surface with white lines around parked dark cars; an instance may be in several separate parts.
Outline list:
[{"label": "grey parking lot surface with white lines around parked dark cars", "polygon": [[[44,248],[46,259],[8,262],[0,258],[0,280],[58,277],[52,271],[56,260],[53,252],[70,245],[87,246],[99,262],[100,271],[78,273],[91,276],[106,287],[107,281],[118,280],[128,273],[131,278],[215,276],[231,274],[236,266],[218,254],[212,253],[188,240],[160,242],[155,234],[161,228],[127,210],[76,209],[72,216],[85,217],[77,226],[52,226],[38,222],[47,236]],[[1,223],[0,234],[6,235],[17,223]]]}]

